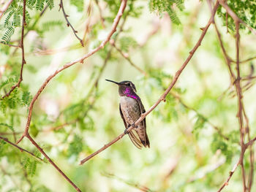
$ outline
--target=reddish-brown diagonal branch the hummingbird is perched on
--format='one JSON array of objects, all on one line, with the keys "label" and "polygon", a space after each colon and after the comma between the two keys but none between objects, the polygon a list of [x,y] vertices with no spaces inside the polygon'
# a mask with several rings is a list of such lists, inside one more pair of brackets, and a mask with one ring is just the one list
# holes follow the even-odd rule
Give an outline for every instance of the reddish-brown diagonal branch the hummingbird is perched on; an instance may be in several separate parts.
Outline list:
[{"label": "reddish-brown diagonal branch the hummingbird is perched on", "polygon": [[[160,98],[157,100],[157,102],[152,105],[148,111],[144,112],[142,115],[140,115],[140,118],[135,122],[135,126],[137,126],[144,118],[146,118],[146,116],[154,110],[154,108],[157,107],[157,105],[161,102],[161,101],[165,101],[165,97],[167,96],[167,94],[170,92],[170,90],[173,88],[173,86],[176,84],[178,77],[181,75],[181,72],[184,70],[184,68],[187,66],[187,64],[189,63],[190,59],[192,58],[192,56],[194,55],[195,51],[197,50],[197,48],[201,45],[201,42],[203,41],[203,37],[205,37],[206,35],[206,31],[208,30],[209,26],[211,26],[211,23],[213,23],[214,21],[214,15],[216,13],[217,8],[219,7],[219,2],[217,1],[216,4],[214,5],[214,9],[213,12],[211,14],[211,18],[208,20],[208,23],[206,25],[206,27],[203,28],[203,32],[200,36],[200,38],[198,39],[195,47],[189,52],[189,56],[187,57],[186,61],[184,61],[184,64],[181,66],[180,69],[178,69],[178,71],[175,74],[175,77],[173,78],[172,82],[170,82],[169,87],[167,88],[167,90],[165,91],[165,93],[162,94],[162,96],[160,96]],[[131,131],[134,127],[130,126],[127,131]],[[103,147],[101,147],[99,150],[97,150],[96,152],[92,153],[91,155],[89,155],[88,157],[84,158],[82,161],[80,161],[80,165],[84,164],[86,161],[89,161],[89,159],[93,158],[95,155],[99,154],[100,152],[102,152],[103,150],[105,150],[106,148],[110,147],[111,145],[113,145],[115,142],[117,142],[119,139],[121,139],[122,137],[124,137],[124,133],[120,134],[118,137],[116,137],[115,139],[113,139],[111,142],[109,142],[107,145],[104,145]]]}]

